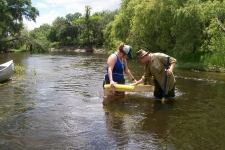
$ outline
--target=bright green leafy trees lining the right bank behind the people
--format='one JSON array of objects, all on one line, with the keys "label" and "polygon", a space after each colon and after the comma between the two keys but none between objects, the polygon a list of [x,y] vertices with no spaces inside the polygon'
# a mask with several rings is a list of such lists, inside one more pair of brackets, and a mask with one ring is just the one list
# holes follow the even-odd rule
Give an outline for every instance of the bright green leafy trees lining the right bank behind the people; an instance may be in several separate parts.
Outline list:
[{"label": "bright green leafy trees lining the right bank behind the people", "polygon": [[104,46],[115,48],[123,41],[134,52],[164,52],[178,60],[224,67],[224,18],[225,2],[219,0],[123,0],[104,30]]}]

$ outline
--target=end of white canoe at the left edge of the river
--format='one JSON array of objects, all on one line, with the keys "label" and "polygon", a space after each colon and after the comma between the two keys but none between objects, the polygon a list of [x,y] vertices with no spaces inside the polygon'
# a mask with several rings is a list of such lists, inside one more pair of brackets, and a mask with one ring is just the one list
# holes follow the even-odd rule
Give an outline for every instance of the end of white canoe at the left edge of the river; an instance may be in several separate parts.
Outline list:
[{"label": "end of white canoe at the left edge of the river", "polygon": [[0,82],[6,81],[11,78],[14,73],[14,63],[10,60],[0,65]]}]

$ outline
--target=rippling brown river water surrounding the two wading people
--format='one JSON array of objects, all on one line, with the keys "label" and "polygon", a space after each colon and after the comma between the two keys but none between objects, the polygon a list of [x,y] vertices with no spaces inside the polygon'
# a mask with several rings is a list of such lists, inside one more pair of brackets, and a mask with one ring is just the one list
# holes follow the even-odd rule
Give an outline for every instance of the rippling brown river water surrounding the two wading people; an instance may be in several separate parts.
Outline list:
[{"label": "rippling brown river water surrounding the two wading people", "polygon": [[[225,74],[175,68],[176,97],[165,104],[151,92],[105,100],[107,57],[0,54],[26,67],[0,84],[0,150],[224,149]],[[128,63],[140,79],[143,65]]]}]

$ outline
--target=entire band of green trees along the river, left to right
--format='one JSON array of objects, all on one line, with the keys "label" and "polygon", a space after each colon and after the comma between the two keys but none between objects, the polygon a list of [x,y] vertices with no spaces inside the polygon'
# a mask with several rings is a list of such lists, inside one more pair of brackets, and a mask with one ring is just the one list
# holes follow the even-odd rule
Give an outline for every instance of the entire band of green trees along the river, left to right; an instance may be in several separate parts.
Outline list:
[{"label": "entire band of green trees along the river, left to right", "polygon": [[[31,12],[15,19],[30,14],[25,18],[35,21],[38,11],[26,5]],[[3,0],[0,7],[4,6],[10,4]],[[103,47],[113,52],[120,42],[125,42],[134,52],[144,49],[172,55],[178,59],[178,66],[225,72],[225,2],[221,0],[122,0],[119,10],[91,14],[91,9],[85,6],[84,15],[67,14],[30,32],[17,29],[19,25],[13,27],[12,22],[4,24],[8,14],[14,13],[2,11],[0,49],[43,51],[76,45],[88,51]],[[10,32],[6,26],[11,27]],[[10,41],[13,38],[20,40]]]}]

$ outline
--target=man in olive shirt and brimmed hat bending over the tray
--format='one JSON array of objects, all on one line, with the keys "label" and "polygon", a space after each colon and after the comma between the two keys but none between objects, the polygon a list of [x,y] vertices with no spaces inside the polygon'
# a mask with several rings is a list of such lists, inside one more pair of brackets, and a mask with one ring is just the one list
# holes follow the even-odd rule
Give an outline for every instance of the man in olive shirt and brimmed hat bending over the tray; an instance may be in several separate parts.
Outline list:
[{"label": "man in olive shirt and brimmed hat bending over the tray", "polygon": [[[140,62],[145,64],[145,72],[142,78],[133,85],[138,85],[140,83],[146,84],[148,82],[150,85],[155,86],[154,96],[156,98],[162,98],[164,80],[167,75],[165,97],[175,97],[176,80],[173,70],[177,60],[164,53],[150,53],[142,49],[136,52],[136,57]],[[166,70],[165,68],[168,57],[170,57],[169,68]]]}]

